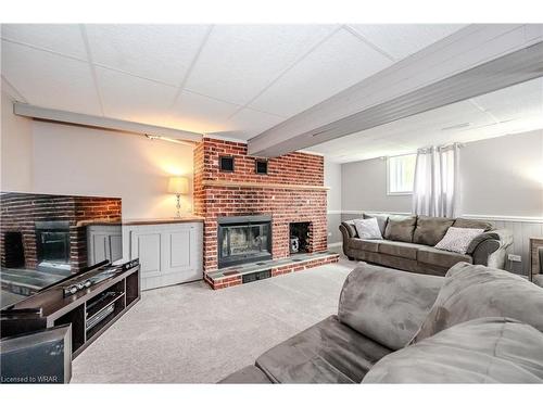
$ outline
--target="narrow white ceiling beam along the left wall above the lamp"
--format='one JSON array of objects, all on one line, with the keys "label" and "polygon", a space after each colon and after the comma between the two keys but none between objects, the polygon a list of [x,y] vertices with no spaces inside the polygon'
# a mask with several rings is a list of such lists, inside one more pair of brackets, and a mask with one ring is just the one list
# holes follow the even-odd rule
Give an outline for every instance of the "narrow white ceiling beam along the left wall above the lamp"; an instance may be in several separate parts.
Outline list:
[{"label": "narrow white ceiling beam along the left wall above the lamp", "polygon": [[119,120],[116,118],[59,111],[54,109],[34,106],[31,104],[25,104],[18,102],[13,103],[13,113],[15,113],[18,116],[31,117],[40,120],[58,122],[58,123],[92,127],[92,128],[103,128],[108,130],[169,138],[175,140],[192,141],[192,142],[199,142],[202,140],[202,135],[198,132],[178,130],[169,127],[146,125],[136,122]]}]

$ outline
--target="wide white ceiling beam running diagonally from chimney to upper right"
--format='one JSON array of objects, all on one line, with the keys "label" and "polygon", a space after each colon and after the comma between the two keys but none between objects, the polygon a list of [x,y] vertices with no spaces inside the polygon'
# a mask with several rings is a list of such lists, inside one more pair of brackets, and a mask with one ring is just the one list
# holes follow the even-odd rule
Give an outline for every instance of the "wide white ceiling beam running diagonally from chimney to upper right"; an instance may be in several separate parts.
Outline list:
[{"label": "wide white ceiling beam running diagonally from chimney to upper right", "polygon": [[543,25],[470,25],[250,139],[249,153],[286,154],[543,76],[542,41]]}]

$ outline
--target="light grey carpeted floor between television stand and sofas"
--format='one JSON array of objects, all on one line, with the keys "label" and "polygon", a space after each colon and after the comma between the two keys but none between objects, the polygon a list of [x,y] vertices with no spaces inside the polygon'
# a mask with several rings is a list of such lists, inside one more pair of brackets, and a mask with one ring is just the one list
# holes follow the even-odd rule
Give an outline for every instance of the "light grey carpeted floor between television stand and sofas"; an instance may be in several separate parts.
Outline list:
[{"label": "light grey carpeted floor between television stand and sofas", "polygon": [[212,291],[204,282],[146,291],[73,364],[73,383],[215,383],[336,314],[355,262]]}]

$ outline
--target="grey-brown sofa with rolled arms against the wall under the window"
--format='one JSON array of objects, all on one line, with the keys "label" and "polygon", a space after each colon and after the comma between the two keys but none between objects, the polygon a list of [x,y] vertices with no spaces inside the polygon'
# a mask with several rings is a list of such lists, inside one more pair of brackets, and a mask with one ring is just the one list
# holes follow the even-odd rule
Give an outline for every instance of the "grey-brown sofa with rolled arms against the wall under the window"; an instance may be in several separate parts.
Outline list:
[{"label": "grey-brown sofa with rolled arms against the wall under the window", "polygon": [[[359,239],[352,220],[343,221],[343,253],[358,259],[400,270],[444,276],[458,262],[504,268],[507,247],[513,243],[508,230],[495,230],[490,222],[429,216],[364,214],[377,218],[383,240]],[[466,254],[433,247],[447,229],[477,228],[484,233],[473,239]]]}]

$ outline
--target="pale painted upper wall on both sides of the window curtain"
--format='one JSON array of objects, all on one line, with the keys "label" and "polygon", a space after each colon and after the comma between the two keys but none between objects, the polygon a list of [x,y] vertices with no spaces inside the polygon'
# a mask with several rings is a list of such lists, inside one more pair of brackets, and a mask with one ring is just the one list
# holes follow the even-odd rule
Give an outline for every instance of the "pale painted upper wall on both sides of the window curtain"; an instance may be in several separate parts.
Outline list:
[{"label": "pale painted upper wall on both sides of the window curtain", "polygon": [[[543,130],[467,143],[460,150],[460,213],[543,217]],[[343,211],[406,212],[412,196],[387,195],[387,163],[342,165]]]}]

